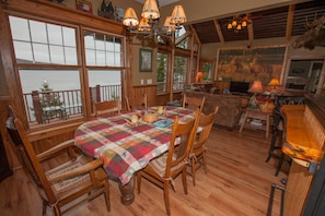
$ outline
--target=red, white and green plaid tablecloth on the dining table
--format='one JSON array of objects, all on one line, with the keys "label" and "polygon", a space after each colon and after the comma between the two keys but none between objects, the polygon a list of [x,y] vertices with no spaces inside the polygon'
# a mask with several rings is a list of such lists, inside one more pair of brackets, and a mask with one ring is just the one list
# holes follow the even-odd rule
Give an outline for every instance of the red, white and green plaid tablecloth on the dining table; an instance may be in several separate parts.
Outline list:
[{"label": "red, white and green plaid tablecloth on the dining table", "polygon": [[[151,108],[154,109],[154,108]],[[81,124],[74,133],[76,145],[92,157],[102,157],[109,178],[119,179],[123,184],[130,181],[134,173],[169,149],[171,127],[159,128],[141,121],[130,124],[132,111],[108,118],[98,118]],[[166,107],[165,115],[159,117],[171,121],[178,116],[179,121],[194,118],[194,111],[182,107]]]}]

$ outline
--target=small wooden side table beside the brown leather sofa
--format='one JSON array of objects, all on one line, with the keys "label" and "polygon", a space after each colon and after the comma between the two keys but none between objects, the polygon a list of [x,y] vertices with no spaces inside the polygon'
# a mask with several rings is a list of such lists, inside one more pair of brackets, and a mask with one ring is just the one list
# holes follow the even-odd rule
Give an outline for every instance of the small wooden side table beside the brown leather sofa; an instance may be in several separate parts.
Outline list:
[{"label": "small wooden side table beside the brown leather sofa", "polygon": [[[266,131],[265,137],[268,139],[270,115],[270,112],[263,112],[259,109],[246,108],[240,133],[242,133],[244,127],[252,129],[262,129]],[[265,121],[265,124],[262,123],[262,125],[254,125],[253,123],[251,123],[253,119]]]}]

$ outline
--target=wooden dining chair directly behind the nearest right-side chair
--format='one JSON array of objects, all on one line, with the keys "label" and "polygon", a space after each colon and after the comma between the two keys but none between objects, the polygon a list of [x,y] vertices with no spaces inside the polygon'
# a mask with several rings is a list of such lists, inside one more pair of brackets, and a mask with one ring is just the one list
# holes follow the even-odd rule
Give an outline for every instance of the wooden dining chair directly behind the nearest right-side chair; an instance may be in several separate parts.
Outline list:
[{"label": "wooden dining chair directly behind the nearest right-side chair", "polygon": [[193,179],[193,185],[195,185],[196,170],[204,167],[205,173],[207,173],[207,157],[206,157],[206,142],[210,135],[213,127],[214,118],[218,113],[219,106],[216,106],[214,111],[209,115],[200,115],[198,121],[197,135],[195,137],[193,147],[189,153],[189,175]]}]

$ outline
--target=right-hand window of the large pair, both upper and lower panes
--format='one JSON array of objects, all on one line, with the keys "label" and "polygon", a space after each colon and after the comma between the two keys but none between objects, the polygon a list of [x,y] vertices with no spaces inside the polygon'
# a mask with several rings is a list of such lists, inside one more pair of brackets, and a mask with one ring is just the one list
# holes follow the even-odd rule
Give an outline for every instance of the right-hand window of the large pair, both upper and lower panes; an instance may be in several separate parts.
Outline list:
[{"label": "right-hand window of the large pair, both upper and lower panes", "polygon": [[84,31],[84,47],[91,107],[93,108],[93,104],[97,101],[120,99],[123,70],[116,67],[123,65],[121,39]]}]

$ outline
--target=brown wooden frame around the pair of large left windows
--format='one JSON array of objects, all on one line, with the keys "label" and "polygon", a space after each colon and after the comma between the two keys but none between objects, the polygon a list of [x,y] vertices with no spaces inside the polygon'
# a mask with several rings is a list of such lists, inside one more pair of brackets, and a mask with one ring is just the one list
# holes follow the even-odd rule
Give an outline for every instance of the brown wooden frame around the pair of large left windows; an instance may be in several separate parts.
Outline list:
[{"label": "brown wooden frame around the pair of large left windows", "polygon": [[[34,129],[45,129],[45,128],[48,128],[49,125],[60,125],[60,124],[67,124],[67,121],[60,121],[60,122],[54,122],[54,123],[49,123],[49,124],[32,124],[28,119],[27,119],[27,115],[26,115],[26,108],[24,106],[24,98],[23,98],[23,92],[22,92],[22,88],[21,88],[21,76],[19,74],[19,70],[20,69],[62,69],[62,70],[69,70],[69,69],[74,69],[74,70],[78,70],[79,71],[79,79],[80,79],[80,92],[81,92],[81,100],[82,100],[82,107],[84,107],[85,109],[83,109],[81,116],[77,119],[71,119],[69,120],[69,123],[73,123],[74,121],[80,121],[80,120],[84,120],[84,119],[88,119],[91,115],[92,115],[92,111],[91,111],[91,101],[90,101],[90,93],[86,91],[89,89],[88,88],[88,79],[89,76],[86,75],[86,71],[88,69],[86,68],[95,68],[95,69],[101,69],[101,68],[104,68],[105,70],[120,70],[120,75],[121,77],[125,76],[125,71],[126,71],[126,37],[124,35],[119,35],[119,34],[115,34],[115,33],[111,33],[111,32],[106,32],[106,31],[103,31],[102,28],[97,27],[96,29],[94,28],[90,28],[90,27],[85,27],[83,25],[78,25],[78,24],[72,24],[72,23],[69,23],[69,22],[62,22],[62,21],[57,21],[57,20],[48,20],[46,17],[40,17],[40,16],[35,16],[35,15],[28,15],[28,14],[18,14],[15,12],[12,12],[12,13],[7,13],[7,21],[8,21],[8,26],[9,26],[9,31],[10,31],[10,24],[9,24],[9,16],[16,16],[16,17],[20,17],[20,19],[27,19],[27,20],[33,20],[33,21],[38,21],[38,22],[44,22],[44,23],[48,23],[48,24],[55,24],[55,25],[59,25],[59,26],[67,26],[67,27],[71,27],[74,29],[74,33],[76,33],[76,48],[77,48],[77,64],[76,65],[70,65],[70,64],[67,64],[67,65],[57,65],[57,64],[53,64],[53,63],[38,63],[38,64],[33,64],[33,63],[21,63],[21,62],[18,62],[16,58],[15,58],[15,55],[12,55],[13,57],[13,62],[15,62],[15,65],[16,65],[16,70],[15,70],[15,76],[18,77],[16,79],[16,86],[20,86],[19,89],[21,89],[19,92],[19,97],[21,97],[21,103],[22,103],[22,111],[24,112],[24,122],[25,125],[27,125],[30,129],[34,130]],[[120,67],[85,67],[85,58],[83,57],[84,56],[84,43],[83,43],[83,37],[82,37],[82,33],[83,33],[83,29],[90,29],[90,31],[93,31],[93,32],[100,32],[100,33],[103,33],[105,35],[109,35],[112,37],[118,37],[120,38],[121,40],[121,53],[120,53],[120,58],[121,58],[121,65]],[[11,31],[10,31],[11,32]],[[9,40],[11,41],[11,47],[12,47],[12,51],[14,52],[14,46],[13,46],[13,37],[10,35],[9,37]],[[125,83],[123,82],[124,79],[121,79],[121,91],[123,91],[123,94],[124,94],[124,89],[125,89]]]}]

